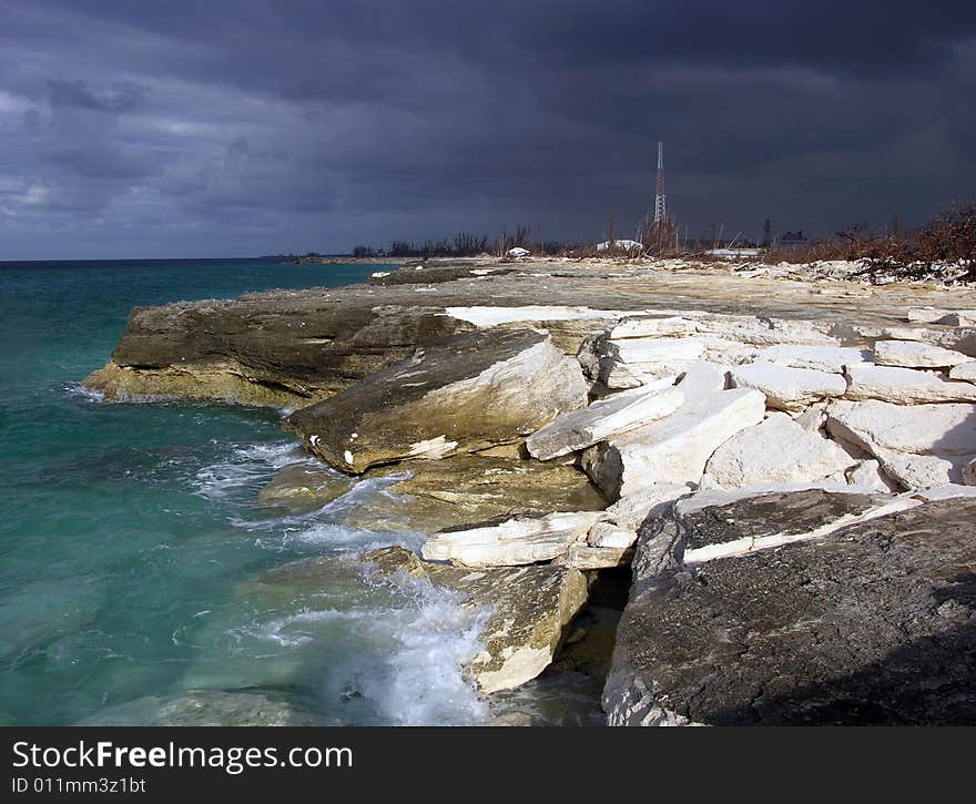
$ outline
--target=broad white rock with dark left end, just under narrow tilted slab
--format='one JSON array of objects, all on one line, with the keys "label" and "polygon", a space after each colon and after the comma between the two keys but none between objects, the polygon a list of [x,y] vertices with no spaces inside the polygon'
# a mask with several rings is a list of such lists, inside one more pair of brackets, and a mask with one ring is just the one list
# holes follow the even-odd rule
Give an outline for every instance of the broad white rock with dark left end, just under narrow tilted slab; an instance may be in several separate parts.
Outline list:
[{"label": "broad white rock with dark left end, just under narrow tilted slab", "polygon": [[763,395],[744,388],[690,399],[665,419],[590,447],[582,466],[608,499],[653,484],[697,484],[712,452],[762,421]]}]

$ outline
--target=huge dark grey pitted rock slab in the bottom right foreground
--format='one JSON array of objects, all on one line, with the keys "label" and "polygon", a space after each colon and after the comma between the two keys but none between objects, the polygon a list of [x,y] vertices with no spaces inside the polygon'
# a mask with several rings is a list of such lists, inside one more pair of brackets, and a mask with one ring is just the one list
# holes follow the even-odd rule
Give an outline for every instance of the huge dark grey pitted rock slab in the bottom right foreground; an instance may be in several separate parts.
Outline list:
[{"label": "huge dark grey pitted rock slab in the bottom right foreground", "polygon": [[604,710],[613,724],[974,724],[974,578],[973,499],[665,571],[623,613]]}]

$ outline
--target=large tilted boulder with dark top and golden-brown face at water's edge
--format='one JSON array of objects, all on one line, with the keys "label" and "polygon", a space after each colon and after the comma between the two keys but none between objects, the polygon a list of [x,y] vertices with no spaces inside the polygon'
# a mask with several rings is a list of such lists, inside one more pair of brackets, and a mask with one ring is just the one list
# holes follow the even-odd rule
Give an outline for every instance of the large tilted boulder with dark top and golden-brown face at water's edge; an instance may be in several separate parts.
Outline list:
[{"label": "large tilted boulder with dark top and golden-brown face at water's edge", "polygon": [[343,471],[406,458],[443,458],[519,440],[584,407],[579,364],[531,329],[458,335],[325,401],[287,426]]}]

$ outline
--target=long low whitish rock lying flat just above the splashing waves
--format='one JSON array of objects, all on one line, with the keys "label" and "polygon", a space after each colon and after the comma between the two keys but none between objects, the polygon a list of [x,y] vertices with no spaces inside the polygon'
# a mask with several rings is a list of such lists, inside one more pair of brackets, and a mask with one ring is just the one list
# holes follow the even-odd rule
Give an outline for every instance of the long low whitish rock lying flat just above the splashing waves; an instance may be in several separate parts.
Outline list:
[{"label": "long low whitish rock lying flat just above the splashing waves", "polygon": [[441,530],[424,542],[428,561],[450,561],[461,567],[515,567],[551,561],[570,545],[584,541],[601,511],[516,517],[475,528]]}]

